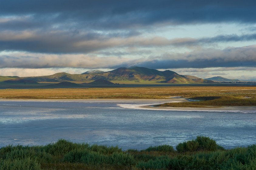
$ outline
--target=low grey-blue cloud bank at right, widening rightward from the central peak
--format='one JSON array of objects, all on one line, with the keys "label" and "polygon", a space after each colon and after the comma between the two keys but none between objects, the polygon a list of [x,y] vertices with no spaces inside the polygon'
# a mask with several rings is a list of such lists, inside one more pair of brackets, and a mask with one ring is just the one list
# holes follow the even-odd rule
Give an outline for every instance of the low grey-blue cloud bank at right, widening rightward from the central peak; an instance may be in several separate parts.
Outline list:
[{"label": "low grey-blue cloud bank at right, widening rightward from the central peak", "polygon": [[[154,59],[157,58],[157,59]],[[145,61],[129,61],[116,67],[137,65],[147,68],[209,68],[209,67],[255,67],[256,45],[240,48],[203,49],[193,52],[165,54]],[[182,59],[180,59],[182,58]]]}]

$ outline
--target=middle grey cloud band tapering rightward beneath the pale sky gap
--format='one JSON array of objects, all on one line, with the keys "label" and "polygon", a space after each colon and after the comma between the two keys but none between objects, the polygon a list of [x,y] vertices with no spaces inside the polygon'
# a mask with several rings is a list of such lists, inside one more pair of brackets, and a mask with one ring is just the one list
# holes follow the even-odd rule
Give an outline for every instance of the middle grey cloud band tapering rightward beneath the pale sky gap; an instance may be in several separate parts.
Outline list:
[{"label": "middle grey cloud band tapering rightward beneath the pale sky gap", "polygon": [[[76,29],[68,31],[5,31],[0,34],[0,51],[27,51],[42,53],[89,53],[108,48],[120,47],[159,47],[159,46],[202,46],[218,42],[239,42],[256,40],[256,34],[218,35],[205,38],[163,37],[145,38],[140,32],[126,31],[121,33],[80,33]],[[100,52],[98,52],[100,53]]]}]

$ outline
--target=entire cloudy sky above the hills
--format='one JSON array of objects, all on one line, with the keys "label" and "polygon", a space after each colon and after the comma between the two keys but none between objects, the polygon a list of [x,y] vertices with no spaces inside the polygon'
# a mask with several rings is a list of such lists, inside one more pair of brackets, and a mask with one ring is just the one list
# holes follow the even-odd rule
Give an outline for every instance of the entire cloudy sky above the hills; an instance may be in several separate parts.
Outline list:
[{"label": "entire cloudy sky above the hills", "polygon": [[0,75],[140,66],[256,80],[255,0],[8,0]]}]

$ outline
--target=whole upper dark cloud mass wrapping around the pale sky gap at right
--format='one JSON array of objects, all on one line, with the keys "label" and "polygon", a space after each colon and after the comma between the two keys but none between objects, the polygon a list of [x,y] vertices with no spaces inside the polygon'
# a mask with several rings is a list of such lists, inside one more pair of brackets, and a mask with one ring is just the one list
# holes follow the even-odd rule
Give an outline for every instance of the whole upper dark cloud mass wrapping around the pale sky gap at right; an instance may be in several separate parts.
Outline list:
[{"label": "whole upper dark cloud mass wrapping around the pale sky gap at right", "polygon": [[255,23],[255,6],[254,0],[2,1],[0,51],[88,53],[115,47],[250,41],[255,40],[255,34],[171,40],[140,35],[157,24]]}]

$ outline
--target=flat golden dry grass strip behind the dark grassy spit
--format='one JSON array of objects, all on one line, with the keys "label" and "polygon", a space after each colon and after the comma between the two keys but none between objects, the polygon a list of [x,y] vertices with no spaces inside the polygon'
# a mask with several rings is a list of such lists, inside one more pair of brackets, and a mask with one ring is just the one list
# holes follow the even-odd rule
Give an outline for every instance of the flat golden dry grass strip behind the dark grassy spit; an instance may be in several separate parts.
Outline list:
[{"label": "flat golden dry grass strip behind the dark grassy spit", "polygon": [[197,86],[197,87],[132,87],[132,88],[56,88],[56,89],[1,89],[5,99],[160,99],[183,97],[256,97],[256,87]]}]

